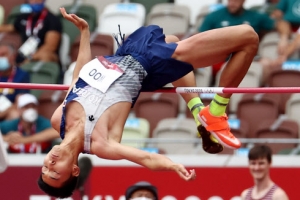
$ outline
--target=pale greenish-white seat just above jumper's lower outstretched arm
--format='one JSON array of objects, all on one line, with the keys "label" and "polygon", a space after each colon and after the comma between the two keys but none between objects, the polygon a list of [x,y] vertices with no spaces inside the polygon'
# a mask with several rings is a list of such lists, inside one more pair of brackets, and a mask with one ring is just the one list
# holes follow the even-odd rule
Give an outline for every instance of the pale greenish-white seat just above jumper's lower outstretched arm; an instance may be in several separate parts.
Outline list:
[{"label": "pale greenish-white seat just above jumper's lower outstretched arm", "polygon": [[131,140],[149,138],[149,131],[150,124],[148,120],[130,117],[126,120],[121,143],[135,148],[145,148],[146,142],[134,142]]}]

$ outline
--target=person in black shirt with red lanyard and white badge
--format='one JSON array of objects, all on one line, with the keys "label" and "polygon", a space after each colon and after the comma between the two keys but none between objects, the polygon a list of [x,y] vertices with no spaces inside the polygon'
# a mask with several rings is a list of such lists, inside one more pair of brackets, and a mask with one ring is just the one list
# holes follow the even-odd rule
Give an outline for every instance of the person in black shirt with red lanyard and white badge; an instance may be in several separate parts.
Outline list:
[{"label": "person in black shirt with red lanyard and white badge", "polygon": [[23,45],[18,62],[24,60],[58,62],[62,25],[58,17],[45,7],[45,0],[28,0],[31,13],[20,13],[14,24],[0,26],[0,32],[17,31]]}]

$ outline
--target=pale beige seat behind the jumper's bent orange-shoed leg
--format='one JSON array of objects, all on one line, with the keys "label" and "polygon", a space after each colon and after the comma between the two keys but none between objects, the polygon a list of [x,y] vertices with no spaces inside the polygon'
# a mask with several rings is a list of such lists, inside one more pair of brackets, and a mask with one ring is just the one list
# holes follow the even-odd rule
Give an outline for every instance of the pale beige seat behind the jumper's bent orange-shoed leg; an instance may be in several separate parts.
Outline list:
[{"label": "pale beige seat behind the jumper's bent orange-shoed leg", "polygon": [[[222,70],[224,69],[226,64],[222,67],[222,69],[216,75],[216,82],[215,86],[219,85],[220,77]],[[253,61],[248,69],[247,74],[243,78],[242,82],[240,83],[239,87],[260,87],[262,82],[262,66],[259,62]],[[241,100],[243,94],[233,94],[230,98],[230,113],[237,112],[237,105]]]}]

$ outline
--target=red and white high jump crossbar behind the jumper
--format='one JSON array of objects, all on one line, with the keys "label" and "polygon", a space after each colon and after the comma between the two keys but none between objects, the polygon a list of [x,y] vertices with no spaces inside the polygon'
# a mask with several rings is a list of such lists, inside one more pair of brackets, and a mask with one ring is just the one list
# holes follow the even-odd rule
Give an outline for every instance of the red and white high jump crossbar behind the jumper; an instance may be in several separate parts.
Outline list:
[{"label": "red and white high jump crossbar behind the jumper", "polygon": [[[68,90],[68,85],[41,83],[7,83],[0,82],[0,88],[31,90]],[[153,92],[160,93],[300,93],[300,87],[164,87]]]}]

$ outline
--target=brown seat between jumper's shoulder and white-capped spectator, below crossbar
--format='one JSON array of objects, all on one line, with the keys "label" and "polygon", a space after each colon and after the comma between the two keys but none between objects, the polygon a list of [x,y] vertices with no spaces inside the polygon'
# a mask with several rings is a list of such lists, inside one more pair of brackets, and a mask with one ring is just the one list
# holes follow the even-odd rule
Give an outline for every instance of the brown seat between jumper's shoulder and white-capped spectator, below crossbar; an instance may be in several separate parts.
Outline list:
[{"label": "brown seat between jumper's shoulder and white-capped spectator, below crossbar", "polygon": [[51,119],[54,111],[64,101],[67,91],[62,90],[50,90],[43,91],[38,99],[38,111],[39,114],[47,119]]}]

